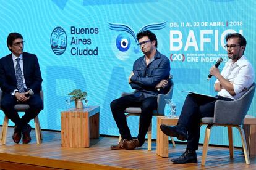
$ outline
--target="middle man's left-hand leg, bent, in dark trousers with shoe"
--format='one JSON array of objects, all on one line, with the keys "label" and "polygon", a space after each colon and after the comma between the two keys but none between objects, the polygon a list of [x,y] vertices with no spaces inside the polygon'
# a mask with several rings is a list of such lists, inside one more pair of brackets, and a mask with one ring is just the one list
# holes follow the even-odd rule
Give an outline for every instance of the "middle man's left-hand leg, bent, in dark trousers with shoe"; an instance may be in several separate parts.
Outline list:
[{"label": "middle man's left-hand leg, bent, in dark trousers with shoe", "polygon": [[116,125],[119,129],[119,133],[121,134],[122,140],[118,145],[111,146],[111,149],[121,149],[121,144],[124,139],[130,140],[132,139],[132,135],[130,134],[130,129],[127,125],[126,115],[124,110],[127,107],[140,107],[140,101],[138,97],[134,95],[126,95],[124,97],[120,97],[115,99],[110,104],[112,115],[114,120],[116,121]]}]

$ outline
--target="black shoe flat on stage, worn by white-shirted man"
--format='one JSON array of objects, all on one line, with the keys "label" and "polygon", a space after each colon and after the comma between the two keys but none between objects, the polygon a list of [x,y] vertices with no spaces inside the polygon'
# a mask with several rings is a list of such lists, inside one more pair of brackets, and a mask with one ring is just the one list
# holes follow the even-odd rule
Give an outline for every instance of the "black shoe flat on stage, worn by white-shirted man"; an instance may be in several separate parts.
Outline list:
[{"label": "black shoe flat on stage, worn by white-shirted man", "polygon": [[197,153],[195,150],[186,149],[186,151],[179,156],[179,158],[171,159],[171,162],[176,164],[197,163]]}]

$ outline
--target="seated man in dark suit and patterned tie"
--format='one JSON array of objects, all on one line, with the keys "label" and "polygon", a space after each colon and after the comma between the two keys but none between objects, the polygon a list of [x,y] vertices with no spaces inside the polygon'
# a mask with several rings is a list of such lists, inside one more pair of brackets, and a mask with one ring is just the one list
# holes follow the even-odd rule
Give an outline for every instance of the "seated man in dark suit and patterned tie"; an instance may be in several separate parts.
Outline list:
[{"label": "seated man in dark suit and patterned tie", "polygon": [[[0,59],[0,87],[3,91],[1,109],[15,123],[12,139],[19,143],[23,136],[22,142],[27,144],[31,140],[28,123],[43,109],[39,95],[43,79],[36,55],[23,52],[24,43],[19,33],[10,33],[7,37],[7,47],[12,54]],[[14,110],[14,105],[19,103],[30,105],[22,118]]]}]

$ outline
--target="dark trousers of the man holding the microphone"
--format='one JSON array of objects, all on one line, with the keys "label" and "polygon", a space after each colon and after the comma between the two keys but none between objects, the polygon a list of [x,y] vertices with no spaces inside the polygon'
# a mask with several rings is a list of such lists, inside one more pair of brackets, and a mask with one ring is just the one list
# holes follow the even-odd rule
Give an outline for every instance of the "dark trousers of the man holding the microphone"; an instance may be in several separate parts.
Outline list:
[{"label": "dark trousers of the man holding the microphone", "polygon": [[197,150],[200,137],[200,119],[203,117],[213,117],[216,100],[233,99],[218,96],[217,99],[198,94],[189,94],[183,104],[178,124],[186,126],[187,148]]}]

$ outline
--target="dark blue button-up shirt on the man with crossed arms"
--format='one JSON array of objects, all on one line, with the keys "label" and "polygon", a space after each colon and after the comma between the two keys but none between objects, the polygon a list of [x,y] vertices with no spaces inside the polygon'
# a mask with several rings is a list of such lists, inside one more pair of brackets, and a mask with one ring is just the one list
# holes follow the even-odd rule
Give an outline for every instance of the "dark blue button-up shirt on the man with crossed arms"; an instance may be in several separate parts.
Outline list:
[{"label": "dark blue button-up shirt on the man with crossed arms", "polygon": [[[144,94],[144,97],[156,96],[164,94],[163,90],[158,91],[155,86],[160,83],[162,79],[168,79],[170,75],[169,59],[156,51],[154,60],[146,66],[145,55],[134,62],[133,72],[134,76],[130,78],[132,89],[136,89],[136,96]],[[166,87],[167,89],[168,87]]]}]

